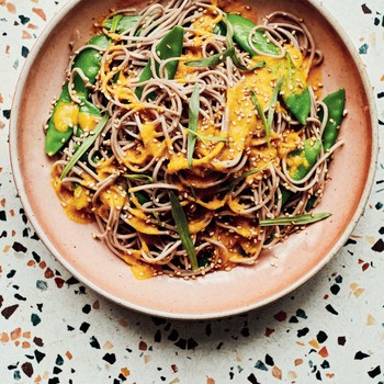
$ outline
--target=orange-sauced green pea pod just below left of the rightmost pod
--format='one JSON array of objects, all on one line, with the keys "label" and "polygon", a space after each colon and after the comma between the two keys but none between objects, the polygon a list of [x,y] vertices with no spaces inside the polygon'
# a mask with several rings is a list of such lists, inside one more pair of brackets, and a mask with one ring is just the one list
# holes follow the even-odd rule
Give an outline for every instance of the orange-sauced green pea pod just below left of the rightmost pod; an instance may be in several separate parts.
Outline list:
[{"label": "orange-sauced green pea pod just below left of the rightmost pod", "polygon": [[289,173],[293,180],[300,181],[304,179],[314,165],[321,151],[321,142],[312,138],[307,138],[304,142],[304,148],[301,150],[294,150],[289,155],[289,158],[296,160],[298,166],[292,166],[289,168]]}]

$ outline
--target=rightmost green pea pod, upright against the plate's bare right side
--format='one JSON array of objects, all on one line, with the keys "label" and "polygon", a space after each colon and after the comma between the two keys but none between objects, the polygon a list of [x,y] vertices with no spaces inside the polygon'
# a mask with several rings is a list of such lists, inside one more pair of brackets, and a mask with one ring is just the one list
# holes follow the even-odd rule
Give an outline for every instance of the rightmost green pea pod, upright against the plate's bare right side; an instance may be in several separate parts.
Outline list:
[{"label": "rightmost green pea pod, upright against the plate's bare right side", "polygon": [[[339,127],[343,117],[346,108],[346,90],[340,88],[334,93],[328,94],[323,102],[328,108],[328,121],[323,132],[323,148],[326,153],[336,143],[339,135]],[[324,111],[319,112],[319,118],[323,121]]]}]

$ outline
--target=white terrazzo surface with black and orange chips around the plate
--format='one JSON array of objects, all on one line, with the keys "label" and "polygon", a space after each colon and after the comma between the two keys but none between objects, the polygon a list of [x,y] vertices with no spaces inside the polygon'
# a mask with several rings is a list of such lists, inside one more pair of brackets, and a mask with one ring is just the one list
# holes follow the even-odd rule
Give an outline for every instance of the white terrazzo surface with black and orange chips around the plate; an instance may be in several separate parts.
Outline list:
[{"label": "white terrazzo surface with black and orange chips around the plate", "polygon": [[[23,214],[8,151],[25,57],[65,1],[0,0],[0,383],[384,383],[384,158],[353,235],[314,279],[242,316],[169,321],[72,278]],[[326,0],[366,65],[384,145],[384,1]]]}]

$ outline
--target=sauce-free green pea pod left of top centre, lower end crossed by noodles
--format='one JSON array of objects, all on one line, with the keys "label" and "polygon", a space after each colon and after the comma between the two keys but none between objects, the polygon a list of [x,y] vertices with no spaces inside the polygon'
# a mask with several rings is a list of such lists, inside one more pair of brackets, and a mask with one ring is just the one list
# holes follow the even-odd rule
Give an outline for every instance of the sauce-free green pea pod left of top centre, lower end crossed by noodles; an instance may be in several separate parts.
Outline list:
[{"label": "sauce-free green pea pod left of top centre, lower end crossed by noodles", "polygon": [[[172,57],[180,57],[183,46],[184,38],[184,30],[182,26],[174,26],[170,32],[168,32],[156,46],[156,50],[161,60],[166,60]],[[154,75],[150,69],[151,61],[149,60],[147,65],[144,67],[143,72],[139,78],[139,82],[150,80]],[[156,74],[159,76],[159,64],[156,63]],[[166,70],[169,79],[173,79],[174,75],[178,70],[179,60],[169,61],[166,65]],[[142,99],[144,87],[136,88],[136,95],[138,99]],[[156,98],[155,93],[148,95],[149,100],[154,100]]]}]

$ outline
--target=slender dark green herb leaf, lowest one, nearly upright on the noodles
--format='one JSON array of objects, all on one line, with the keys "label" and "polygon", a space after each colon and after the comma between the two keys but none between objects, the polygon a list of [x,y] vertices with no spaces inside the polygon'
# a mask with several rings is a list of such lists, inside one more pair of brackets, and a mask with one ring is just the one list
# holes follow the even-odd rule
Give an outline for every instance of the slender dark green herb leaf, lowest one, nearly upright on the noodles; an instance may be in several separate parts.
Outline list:
[{"label": "slender dark green herb leaf, lowest one, nearly upright on the noodles", "polygon": [[187,253],[190,258],[192,269],[197,270],[199,264],[196,258],[196,250],[194,249],[190,229],[188,227],[187,216],[176,194],[173,192],[170,192],[169,196],[172,205],[172,216],[180,236],[180,240],[183,244]]}]

